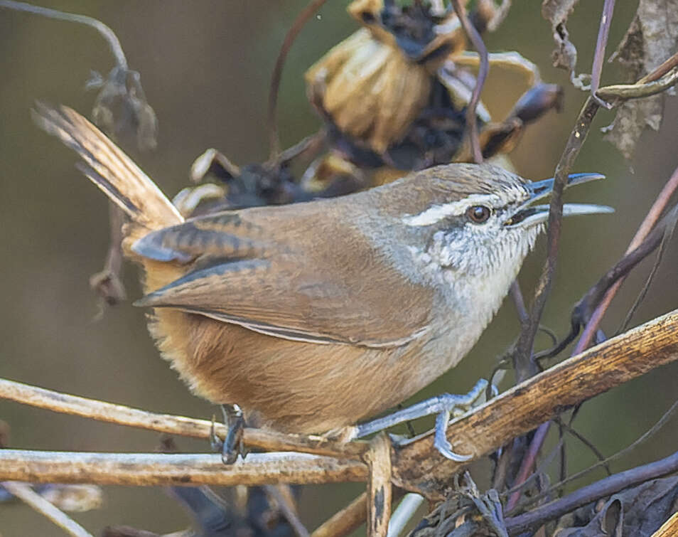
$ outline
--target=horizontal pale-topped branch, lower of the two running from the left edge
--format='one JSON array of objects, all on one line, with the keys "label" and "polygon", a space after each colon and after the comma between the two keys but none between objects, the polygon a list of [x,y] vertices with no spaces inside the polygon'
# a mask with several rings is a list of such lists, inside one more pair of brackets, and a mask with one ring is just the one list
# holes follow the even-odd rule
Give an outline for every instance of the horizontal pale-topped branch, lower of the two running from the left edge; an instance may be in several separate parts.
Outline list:
[{"label": "horizontal pale-topped branch, lower of the two running from the left edge", "polygon": [[133,485],[264,485],[367,481],[362,462],[301,453],[252,453],[226,466],[221,454],[0,450],[0,481]]}]

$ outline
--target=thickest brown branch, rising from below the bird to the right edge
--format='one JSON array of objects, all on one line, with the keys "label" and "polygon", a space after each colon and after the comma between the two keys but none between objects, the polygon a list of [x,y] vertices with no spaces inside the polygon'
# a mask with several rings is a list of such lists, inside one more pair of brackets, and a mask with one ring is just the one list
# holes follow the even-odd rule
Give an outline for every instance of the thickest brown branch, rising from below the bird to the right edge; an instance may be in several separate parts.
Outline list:
[{"label": "thickest brown branch, rising from below the bird to the right edge", "polygon": [[[448,427],[453,450],[479,459],[583,400],[678,360],[678,310],[569,358],[502,393]],[[392,450],[394,484],[441,499],[455,472],[429,432]]]}]

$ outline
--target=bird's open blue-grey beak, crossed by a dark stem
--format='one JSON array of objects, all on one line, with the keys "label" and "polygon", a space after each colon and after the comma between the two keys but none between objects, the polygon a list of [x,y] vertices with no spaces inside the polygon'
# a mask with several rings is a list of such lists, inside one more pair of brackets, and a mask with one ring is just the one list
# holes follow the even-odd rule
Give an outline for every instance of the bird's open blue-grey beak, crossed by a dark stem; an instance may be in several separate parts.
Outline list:
[{"label": "bird's open blue-grey beak, crossed by a dark stem", "polygon": [[[596,179],[605,179],[601,174],[572,174],[567,178],[565,188]],[[545,222],[549,218],[548,205],[532,205],[537,200],[546,198],[553,191],[554,179],[544,179],[544,181],[534,181],[526,185],[530,193],[529,199],[522,203],[511,216],[509,216],[504,225],[507,228],[530,228],[533,225]],[[563,216],[575,214],[600,214],[613,213],[615,210],[606,205],[593,205],[589,203],[565,203],[563,206]]]}]

